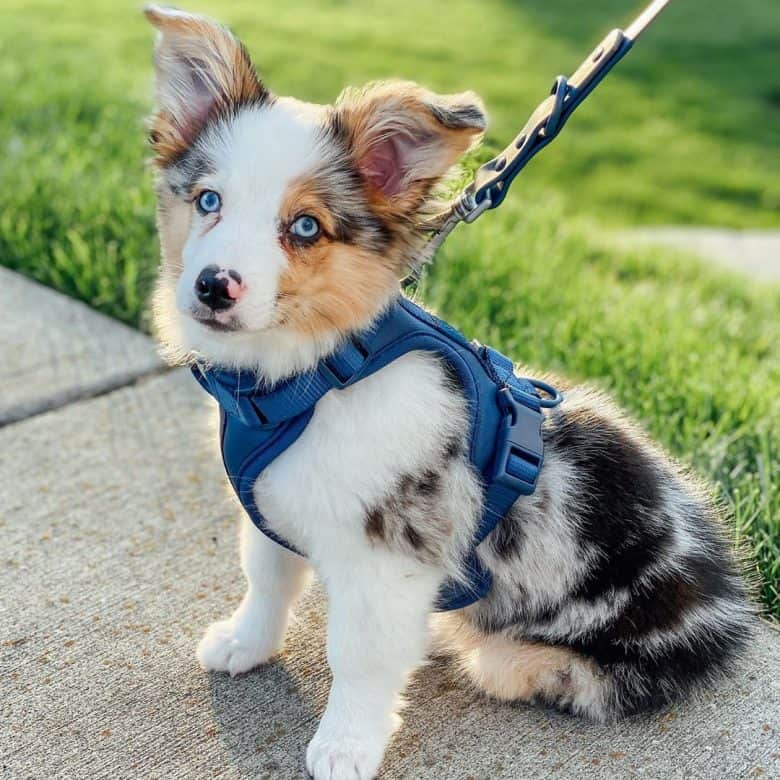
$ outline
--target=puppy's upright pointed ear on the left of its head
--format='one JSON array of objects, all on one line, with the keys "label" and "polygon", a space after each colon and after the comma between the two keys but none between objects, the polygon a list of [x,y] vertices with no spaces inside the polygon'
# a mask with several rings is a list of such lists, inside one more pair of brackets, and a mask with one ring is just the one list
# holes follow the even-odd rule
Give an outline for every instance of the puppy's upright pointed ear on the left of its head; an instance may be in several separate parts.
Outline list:
[{"label": "puppy's upright pointed ear on the left of its head", "polygon": [[187,149],[210,117],[262,103],[269,93],[246,49],[226,28],[174,8],[146,6],[144,15],[160,31],[150,137],[158,164],[165,165]]}]

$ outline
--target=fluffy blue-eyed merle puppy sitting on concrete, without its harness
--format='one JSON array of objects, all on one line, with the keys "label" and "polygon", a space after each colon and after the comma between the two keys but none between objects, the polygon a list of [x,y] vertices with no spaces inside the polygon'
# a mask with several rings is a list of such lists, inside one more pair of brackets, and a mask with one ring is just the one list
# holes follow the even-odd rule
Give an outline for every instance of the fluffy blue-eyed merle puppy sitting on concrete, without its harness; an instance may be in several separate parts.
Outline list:
[{"label": "fluffy blue-eyed merle puppy sitting on concrete, without its harness", "polygon": [[[145,13],[159,31],[159,332],[179,361],[272,387],[396,301],[437,185],[485,129],[483,106],[398,82],[326,106],[278,97],[224,27]],[[483,505],[467,421],[447,366],[411,352],[328,392],[255,483],[268,527],[306,557],[245,519],[246,595],[198,659],[231,675],[271,659],[317,572],[333,682],[306,753],[316,780],[376,775],[405,682],[432,649],[490,696],[610,721],[713,680],[748,641],[716,508],[577,387],[546,413],[536,491],[478,547],[490,592],[434,619]]]}]

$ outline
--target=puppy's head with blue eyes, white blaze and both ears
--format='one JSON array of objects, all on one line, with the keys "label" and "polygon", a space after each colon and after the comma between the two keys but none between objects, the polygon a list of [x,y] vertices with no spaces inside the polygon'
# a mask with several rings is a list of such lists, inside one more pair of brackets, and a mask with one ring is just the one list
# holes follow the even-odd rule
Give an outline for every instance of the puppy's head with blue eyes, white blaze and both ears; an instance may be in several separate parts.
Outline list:
[{"label": "puppy's head with blue eyes, white blaze and both ears", "polygon": [[305,363],[397,294],[436,185],[484,129],[482,105],[411,83],[332,106],[276,97],[225,28],[145,13],[159,30],[163,338],[220,364],[279,349]]}]

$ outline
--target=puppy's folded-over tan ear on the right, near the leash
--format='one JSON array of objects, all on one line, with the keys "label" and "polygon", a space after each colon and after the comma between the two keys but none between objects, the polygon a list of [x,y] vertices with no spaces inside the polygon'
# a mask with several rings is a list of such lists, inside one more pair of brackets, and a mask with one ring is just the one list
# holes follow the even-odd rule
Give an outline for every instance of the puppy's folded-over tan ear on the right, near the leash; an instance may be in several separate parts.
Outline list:
[{"label": "puppy's folded-over tan ear on the right, near the leash", "polygon": [[372,195],[399,211],[419,207],[487,124],[473,92],[436,95],[407,82],[347,90],[335,108]]}]

